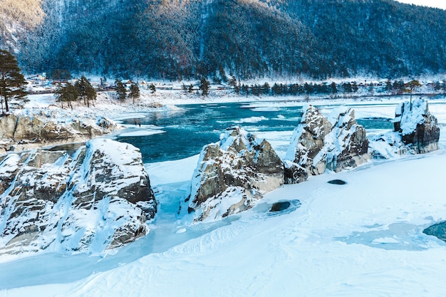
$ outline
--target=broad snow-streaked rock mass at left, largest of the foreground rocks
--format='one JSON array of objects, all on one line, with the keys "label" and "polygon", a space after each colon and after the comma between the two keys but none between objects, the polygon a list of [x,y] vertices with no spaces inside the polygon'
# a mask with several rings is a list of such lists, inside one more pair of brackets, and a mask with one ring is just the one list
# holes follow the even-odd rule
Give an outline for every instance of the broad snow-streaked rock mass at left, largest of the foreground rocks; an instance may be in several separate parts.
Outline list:
[{"label": "broad snow-streaked rock mass at left, largest of the foreground rocks", "polygon": [[157,203],[138,148],[87,142],[74,155],[36,149],[0,157],[0,254],[100,253],[149,231]]}]

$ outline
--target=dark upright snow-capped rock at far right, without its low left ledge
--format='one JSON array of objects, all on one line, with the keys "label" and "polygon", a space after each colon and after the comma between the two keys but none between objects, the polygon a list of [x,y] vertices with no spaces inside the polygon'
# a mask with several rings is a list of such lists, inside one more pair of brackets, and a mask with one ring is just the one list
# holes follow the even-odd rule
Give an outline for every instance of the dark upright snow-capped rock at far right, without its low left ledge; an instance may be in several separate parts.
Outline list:
[{"label": "dark upright snow-capped rock at far right, without its low left ledge", "polygon": [[438,150],[440,127],[437,118],[430,113],[426,100],[420,98],[412,104],[408,101],[400,103],[395,110],[393,125],[404,144],[410,145],[415,153]]}]

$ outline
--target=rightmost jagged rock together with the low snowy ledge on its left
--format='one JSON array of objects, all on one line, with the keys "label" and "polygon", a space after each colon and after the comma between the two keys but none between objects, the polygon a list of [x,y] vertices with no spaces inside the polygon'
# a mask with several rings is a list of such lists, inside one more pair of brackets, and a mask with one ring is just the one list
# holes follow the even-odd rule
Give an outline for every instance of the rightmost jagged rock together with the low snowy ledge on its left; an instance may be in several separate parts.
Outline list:
[{"label": "rightmost jagged rock together with the low snowy ledge on its left", "polygon": [[373,157],[390,159],[399,155],[422,154],[438,150],[440,127],[437,118],[420,98],[398,104],[393,120],[394,131],[376,135],[370,139]]}]

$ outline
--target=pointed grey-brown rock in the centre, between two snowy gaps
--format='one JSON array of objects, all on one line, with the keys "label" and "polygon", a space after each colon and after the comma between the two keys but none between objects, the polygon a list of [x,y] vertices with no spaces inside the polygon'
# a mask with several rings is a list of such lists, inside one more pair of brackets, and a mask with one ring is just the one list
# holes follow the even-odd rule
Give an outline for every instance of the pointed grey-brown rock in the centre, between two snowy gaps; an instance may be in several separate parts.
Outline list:
[{"label": "pointed grey-brown rock in the centre, between two snowy gaps", "polygon": [[266,140],[239,127],[206,145],[199,157],[188,200],[195,221],[219,219],[254,206],[284,184],[284,163]]}]

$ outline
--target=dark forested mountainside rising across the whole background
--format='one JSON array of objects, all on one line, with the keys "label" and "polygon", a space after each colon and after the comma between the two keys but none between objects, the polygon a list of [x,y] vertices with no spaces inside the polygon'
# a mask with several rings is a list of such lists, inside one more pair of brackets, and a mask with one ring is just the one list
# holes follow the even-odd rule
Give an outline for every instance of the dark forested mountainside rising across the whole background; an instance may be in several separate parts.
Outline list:
[{"label": "dark forested mountainside rising across the whole background", "polygon": [[28,73],[243,80],[446,70],[446,11],[391,0],[42,0],[41,8],[43,20],[34,14],[13,36],[0,7],[0,46],[14,48]]}]

